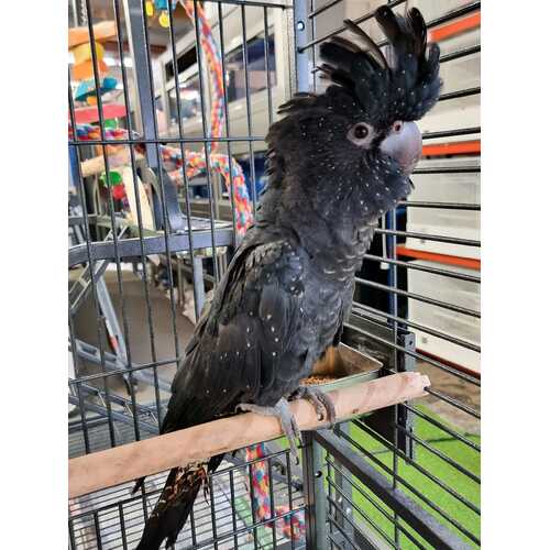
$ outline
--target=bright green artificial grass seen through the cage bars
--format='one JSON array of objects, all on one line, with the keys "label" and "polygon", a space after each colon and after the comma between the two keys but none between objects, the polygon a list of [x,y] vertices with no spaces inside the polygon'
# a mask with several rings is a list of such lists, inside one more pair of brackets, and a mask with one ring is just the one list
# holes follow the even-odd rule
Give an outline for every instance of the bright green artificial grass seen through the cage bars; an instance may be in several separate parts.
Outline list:
[{"label": "bright green artificial grass seen through the cage bars", "polygon": [[[479,436],[466,436],[455,426],[452,426],[450,422],[443,420],[427,407],[417,406],[417,408],[420,413],[424,413],[426,416],[438,420],[443,426],[458,431],[472,442],[476,444],[480,443]],[[437,449],[449,459],[452,459],[454,462],[463,466],[466,471],[480,476],[480,453],[475,449],[472,449],[462,441],[452,438],[449,433],[433,426],[429,421],[419,418],[416,415],[414,415],[414,417],[416,437],[428,443],[431,448]],[[393,452],[389,451],[380,441],[371,437],[369,433],[365,433],[361,428],[354,425],[351,425],[350,437],[354,441],[356,441],[356,443],[363,449],[373,453],[376,459],[380,460],[383,464],[385,464],[389,469],[393,468]],[[415,462],[417,464],[432,474],[436,480],[439,480],[440,482],[446,484],[455,493],[475,505],[477,508],[480,507],[481,487],[475,480],[471,480],[469,476],[457,470],[453,465],[447,463],[443,459],[437,457],[430,450],[425,449],[420,443],[415,444]],[[382,466],[377,465],[375,460],[369,459],[369,462],[374,468],[376,468],[376,470],[391,479],[391,474],[385,472]],[[477,539],[480,538],[481,521],[480,516],[476,512],[462,504],[460,501],[449,494],[444,488],[438,486],[427,475],[425,475],[422,472],[419,472],[414,465],[407,464],[403,459],[398,459],[397,462],[398,475],[403,477],[403,480],[410,484],[428,501],[432,502],[436,506],[443,510],[450,518],[454,519],[463,528],[473,534]],[[358,485],[363,488],[361,483],[358,483]],[[420,506],[422,506],[427,512],[433,515],[443,525],[447,525],[453,532],[464,539],[464,541],[475,547],[475,543],[471,539],[461,534],[460,530],[452,526],[450,521],[446,520],[440,514],[438,514],[428,504],[422,502],[421,498],[416,496],[406,486],[399,485],[399,488],[408,496],[410,496],[414,501],[416,501]],[[392,516],[392,512],[387,506],[378,501],[372,493],[367,491],[366,493],[372,498],[372,501],[374,501],[378,505],[380,508],[385,510],[388,516]],[[355,519],[363,524],[369,524],[370,521],[372,521],[382,531],[382,534],[388,536],[389,540],[393,541],[394,526],[392,521],[387,517],[385,517],[384,514],[380,512],[374,504],[372,504],[372,502],[365,498],[365,496],[361,494],[361,491],[353,488],[352,495],[355,505],[364,515],[362,516],[360,513],[355,513]],[[408,528],[406,525],[404,527],[422,546],[431,548],[430,544],[422,540],[415,531],[413,531],[413,529]],[[376,531],[376,528],[372,527],[372,525],[371,528],[373,529],[373,531]],[[384,536],[380,532],[378,537],[381,539],[384,538]],[[403,532],[400,532],[399,535],[398,547],[403,549],[418,548],[418,546],[415,544]]]}]

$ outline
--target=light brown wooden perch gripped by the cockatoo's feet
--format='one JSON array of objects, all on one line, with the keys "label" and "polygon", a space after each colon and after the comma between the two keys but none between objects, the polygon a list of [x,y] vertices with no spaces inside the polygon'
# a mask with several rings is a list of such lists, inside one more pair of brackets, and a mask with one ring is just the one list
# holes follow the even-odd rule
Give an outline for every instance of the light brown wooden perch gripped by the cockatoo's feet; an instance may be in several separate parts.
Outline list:
[{"label": "light brown wooden perch gripped by the cockatoo's feet", "polygon": [[[428,376],[399,373],[364,382],[328,395],[338,421],[426,395]],[[290,404],[301,430],[326,427],[314,407],[299,399]],[[282,436],[276,418],[253,413],[222,418],[165,436],[136,441],[69,460],[69,498],[155,474]]]}]

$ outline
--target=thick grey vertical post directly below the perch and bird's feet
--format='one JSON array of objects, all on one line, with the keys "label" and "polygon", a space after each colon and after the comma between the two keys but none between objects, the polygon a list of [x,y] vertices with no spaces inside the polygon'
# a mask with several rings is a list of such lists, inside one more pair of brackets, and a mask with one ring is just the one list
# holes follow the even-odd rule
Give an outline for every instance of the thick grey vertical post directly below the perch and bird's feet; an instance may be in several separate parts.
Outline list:
[{"label": "thick grey vertical post directly below the perch and bird's feet", "polygon": [[306,548],[327,544],[327,495],[323,480],[323,449],[310,431],[304,432],[304,499],[306,504]]}]

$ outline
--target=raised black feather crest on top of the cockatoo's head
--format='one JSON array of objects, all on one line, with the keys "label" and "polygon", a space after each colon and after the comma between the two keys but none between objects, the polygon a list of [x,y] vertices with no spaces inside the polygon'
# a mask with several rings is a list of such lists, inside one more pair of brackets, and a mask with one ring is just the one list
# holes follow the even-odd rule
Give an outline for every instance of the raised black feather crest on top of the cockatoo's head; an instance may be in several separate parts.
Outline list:
[{"label": "raised black feather crest on top of the cockatoo's head", "polygon": [[386,55],[346,20],[345,25],[366,48],[358,51],[355,44],[333,37],[320,46],[326,62],[320,69],[334,84],[351,90],[366,120],[383,129],[396,120],[418,120],[433,107],[441,89],[439,47],[427,46],[426,23],[416,8],[403,18],[383,6],[375,18],[389,43]]}]

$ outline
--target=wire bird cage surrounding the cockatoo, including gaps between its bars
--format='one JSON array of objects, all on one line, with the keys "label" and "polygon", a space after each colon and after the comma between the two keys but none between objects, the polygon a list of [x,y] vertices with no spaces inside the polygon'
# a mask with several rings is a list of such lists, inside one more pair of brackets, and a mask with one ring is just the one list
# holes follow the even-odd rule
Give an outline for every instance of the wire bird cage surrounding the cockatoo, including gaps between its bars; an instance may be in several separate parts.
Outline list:
[{"label": "wire bird cage surrounding the cockatoo, including gaps between its bars", "polygon": [[[319,45],[384,2],[69,2],[69,458],[158,435],[208,292],[253,218],[265,134]],[[227,455],[176,548],[480,546],[480,9],[417,6],[442,50],[415,190],[380,222],[343,342],[427,398]],[[94,44],[94,47],[90,47]],[[258,504],[256,473],[267,477]],[[69,499],[73,549],[134,548],[166,472]]]}]

